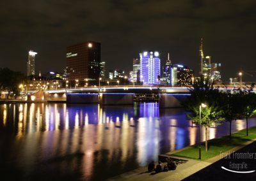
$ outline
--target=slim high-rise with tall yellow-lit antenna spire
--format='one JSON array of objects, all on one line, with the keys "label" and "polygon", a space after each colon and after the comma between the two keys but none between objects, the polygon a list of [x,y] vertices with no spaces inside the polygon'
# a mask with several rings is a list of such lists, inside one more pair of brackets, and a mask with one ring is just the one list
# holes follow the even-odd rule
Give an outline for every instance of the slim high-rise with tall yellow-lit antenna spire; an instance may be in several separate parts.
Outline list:
[{"label": "slim high-rise with tall yellow-lit antenna spire", "polygon": [[203,52],[203,38],[201,39],[200,44],[200,75],[204,77],[204,79],[209,79],[211,76],[211,57],[206,56],[204,57]]}]

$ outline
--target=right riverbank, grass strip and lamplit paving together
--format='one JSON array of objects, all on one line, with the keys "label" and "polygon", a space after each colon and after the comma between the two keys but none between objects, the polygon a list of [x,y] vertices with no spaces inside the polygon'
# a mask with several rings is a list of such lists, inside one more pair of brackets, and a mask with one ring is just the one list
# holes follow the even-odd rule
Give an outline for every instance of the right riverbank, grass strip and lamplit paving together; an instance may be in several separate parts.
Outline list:
[{"label": "right riverbank, grass strip and lamplit paving together", "polygon": [[[250,149],[250,145],[256,141],[256,127],[250,127],[248,130],[249,136],[246,136],[246,129],[243,129],[236,133],[232,133],[232,140],[229,140],[229,136],[221,136],[220,138],[210,140],[208,151],[209,156],[206,156],[205,154],[207,153],[202,150],[202,160],[198,159],[197,145],[191,145],[189,147],[161,155],[187,160],[187,163],[179,164],[176,170],[155,174],[154,171],[152,173],[148,173],[147,166],[145,166],[116,177],[109,178],[108,180],[182,180],[190,175],[194,175],[204,168],[208,168],[211,164],[220,161],[223,159],[223,156],[228,156],[237,150],[241,150],[243,147],[248,147],[248,149]],[[204,148],[205,147],[202,145],[202,149]],[[189,154],[191,154],[191,156]]]}]

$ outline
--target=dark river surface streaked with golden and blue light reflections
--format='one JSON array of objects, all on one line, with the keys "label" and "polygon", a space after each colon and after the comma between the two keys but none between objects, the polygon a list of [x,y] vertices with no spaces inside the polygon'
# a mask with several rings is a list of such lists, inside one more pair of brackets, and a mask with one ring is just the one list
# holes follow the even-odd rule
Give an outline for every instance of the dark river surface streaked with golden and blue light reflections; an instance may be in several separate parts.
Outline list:
[{"label": "dark river surface streaked with golden and blue light reflections", "polygon": [[[244,126],[244,120],[236,120],[232,131]],[[228,124],[209,129],[210,139],[224,134]],[[157,103],[32,103],[0,105],[0,135],[0,164],[6,165],[6,174],[14,170],[25,179],[102,180],[195,144],[198,127],[184,110],[159,110]],[[205,140],[204,129],[201,135]]]}]

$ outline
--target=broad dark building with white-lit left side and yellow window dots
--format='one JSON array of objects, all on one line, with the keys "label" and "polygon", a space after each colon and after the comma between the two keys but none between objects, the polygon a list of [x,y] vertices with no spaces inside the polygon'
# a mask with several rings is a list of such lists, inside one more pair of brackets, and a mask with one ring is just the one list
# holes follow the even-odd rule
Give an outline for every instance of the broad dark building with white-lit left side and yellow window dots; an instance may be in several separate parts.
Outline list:
[{"label": "broad dark building with white-lit left side and yellow window dots", "polygon": [[187,66],[174,64],[170,69],[170,85],[187,87],[192,84],[194,71]]}]

